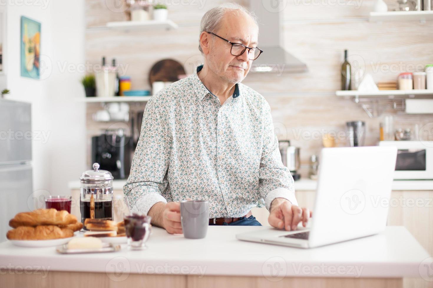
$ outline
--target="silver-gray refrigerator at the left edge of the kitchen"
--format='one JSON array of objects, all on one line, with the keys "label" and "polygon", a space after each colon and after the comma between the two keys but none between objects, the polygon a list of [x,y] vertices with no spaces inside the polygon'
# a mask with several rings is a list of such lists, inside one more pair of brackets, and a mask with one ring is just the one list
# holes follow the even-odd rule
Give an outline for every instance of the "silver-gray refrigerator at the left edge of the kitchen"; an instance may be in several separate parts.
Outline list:
[{"label": "silver-gray refrigerator at the left edge of the kitchen", "polygon": [[9,220],[33,209],[31,117],[30,103],[0,99],[0,242]]}]

